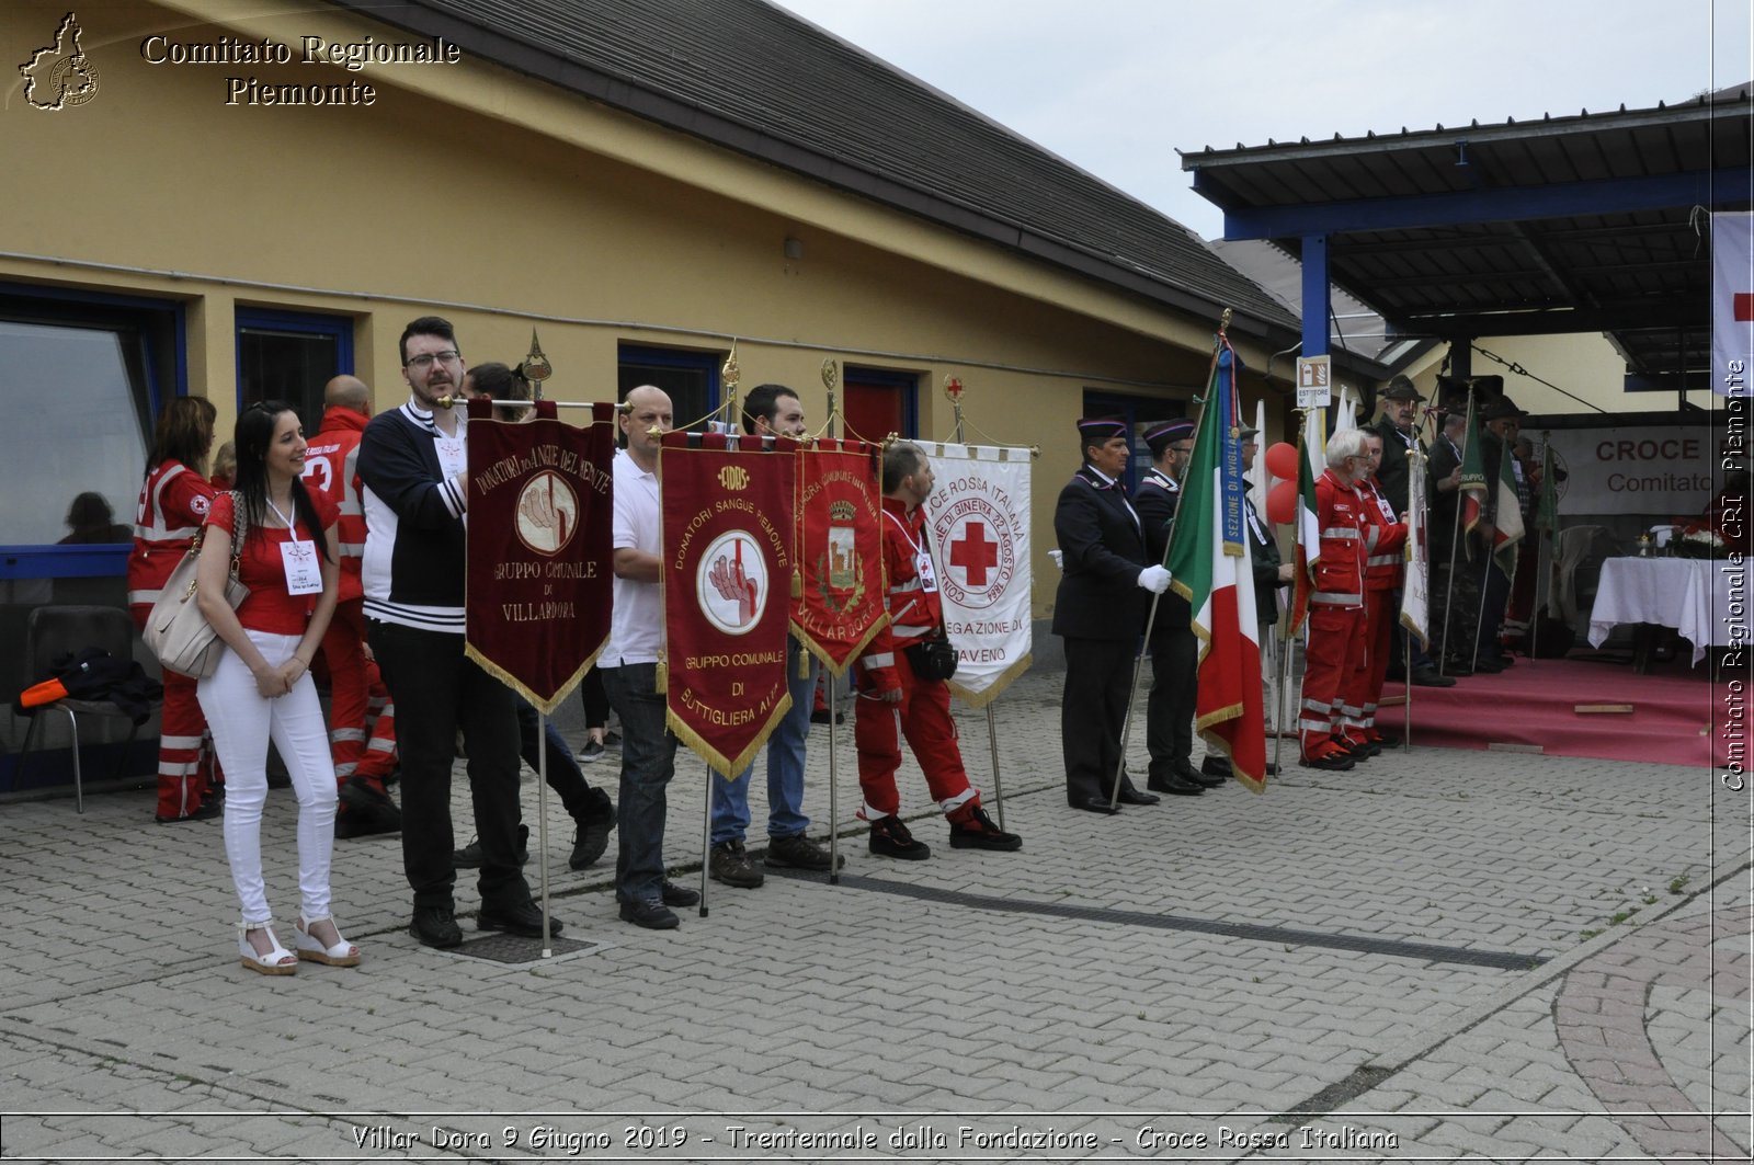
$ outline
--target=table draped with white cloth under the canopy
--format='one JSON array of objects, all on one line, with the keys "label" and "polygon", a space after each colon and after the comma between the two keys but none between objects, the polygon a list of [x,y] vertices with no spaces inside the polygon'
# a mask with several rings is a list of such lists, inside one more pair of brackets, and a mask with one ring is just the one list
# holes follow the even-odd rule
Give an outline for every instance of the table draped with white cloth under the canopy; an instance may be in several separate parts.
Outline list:
[{"label": "table draped with white cloth under the canopy", "polygon": [[[1731,646],[1731,625],[1743,623],[1729,618],[1729,602],[1736,581],[1736,602],[1745,604],[1745,570],[1712,558],[1608,558],[1589,612],[1589,646],[1600,647],[1617,623],[1672,626],[1693,644],[1698,667],[1707,647]],[[1636,670],[1645,670],[1647,654],[1635,649]]]}]

